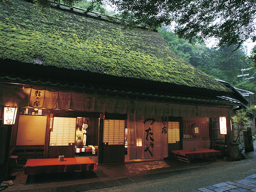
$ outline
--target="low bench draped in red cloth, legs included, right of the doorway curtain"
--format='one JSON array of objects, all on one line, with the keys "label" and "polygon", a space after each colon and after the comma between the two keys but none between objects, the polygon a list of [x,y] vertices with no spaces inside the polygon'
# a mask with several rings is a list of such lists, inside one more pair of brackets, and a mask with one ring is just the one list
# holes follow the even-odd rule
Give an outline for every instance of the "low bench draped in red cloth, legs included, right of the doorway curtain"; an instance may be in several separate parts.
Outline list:
[{"label": "low bench draped in red cloth, legs included, right of the doorway curtain", "polygon": [[175,159],[180,161],[185,161],[191,163],[192,159],[199,158],[207,158],[214,157],[214,161],[217,160],[217,156],[222,155],[221,151],[217,151],[214,149],[197,149],[194,151],[193,149],[183,149],[183,150],[172,150],[172,153],[175,154]]}]

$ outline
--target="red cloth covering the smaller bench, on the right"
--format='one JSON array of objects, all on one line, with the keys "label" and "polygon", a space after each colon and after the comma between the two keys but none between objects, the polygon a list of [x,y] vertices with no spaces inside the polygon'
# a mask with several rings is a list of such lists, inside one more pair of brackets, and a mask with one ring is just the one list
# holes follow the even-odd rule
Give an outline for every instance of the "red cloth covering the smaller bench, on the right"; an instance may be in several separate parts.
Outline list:
[{"label": "red cloth covering the smaller bench, on the right", "polygon": [[173,150],[172,153],[186,156],[188,160],[222,155],[221,151],[214,149],[197,149],[196,151],[193,149],[183,149]]}]

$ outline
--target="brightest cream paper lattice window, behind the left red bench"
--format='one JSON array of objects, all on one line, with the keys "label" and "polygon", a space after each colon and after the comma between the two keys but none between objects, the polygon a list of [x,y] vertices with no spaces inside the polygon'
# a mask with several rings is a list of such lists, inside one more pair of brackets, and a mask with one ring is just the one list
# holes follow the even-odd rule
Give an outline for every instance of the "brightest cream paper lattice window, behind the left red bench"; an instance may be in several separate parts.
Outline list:
[{"label": "brightest cream paper lattice window, behind the left red bench", "polygon": [[68,143],[75,143],[76,119],[54,117],[53,131],[50,133],[50,145],[68,146]]}]

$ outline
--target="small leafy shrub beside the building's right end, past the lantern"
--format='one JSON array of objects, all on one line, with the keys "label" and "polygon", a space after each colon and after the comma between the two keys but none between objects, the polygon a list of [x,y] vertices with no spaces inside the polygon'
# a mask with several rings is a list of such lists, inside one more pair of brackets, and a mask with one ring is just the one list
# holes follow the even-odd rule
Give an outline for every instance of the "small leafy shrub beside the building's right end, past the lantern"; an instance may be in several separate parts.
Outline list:
[{"label": "small leafy shrub beside the building's right end, past the lantern", "polygon": [[234,133],[233,138],[235,142],[237,142],[240,132],[245,131],[247,126],[250,125],[251,121],[249,118],[249,114],[252,113],[252,110],[255,111],[255,106],[246,109],[241,109],[236,112],[234,117],[231,117],[233,123],[237,125],[237,130]]}]

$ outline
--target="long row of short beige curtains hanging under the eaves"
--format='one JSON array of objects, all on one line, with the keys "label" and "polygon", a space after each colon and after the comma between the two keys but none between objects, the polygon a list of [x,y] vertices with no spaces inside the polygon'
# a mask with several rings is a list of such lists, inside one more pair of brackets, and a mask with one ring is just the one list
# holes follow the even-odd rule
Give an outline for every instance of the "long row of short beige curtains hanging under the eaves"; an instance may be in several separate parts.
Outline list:
[{"label": "long row of short beige curtains hanging under the eaves", "polygon": [[234,116],[232,108],[180,105],[128,98],[92,95],[86,93],[48,91],[20,88],[0,83],[0,104],[3,106],[34,107],[46,109],[72,109],[87,112],[107,112],[131,115],[174,117]]}]

